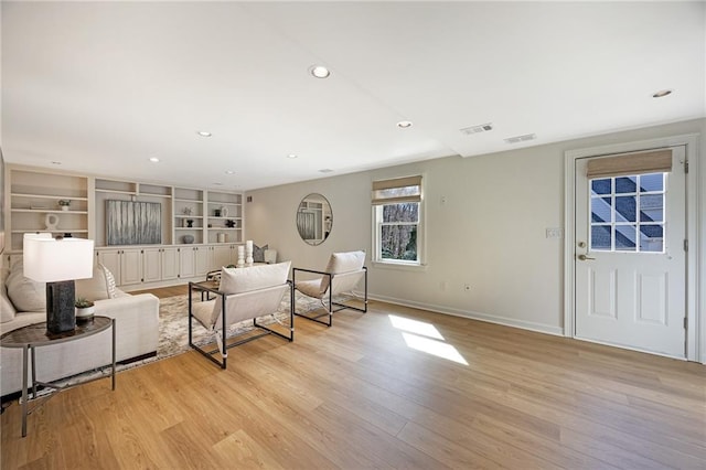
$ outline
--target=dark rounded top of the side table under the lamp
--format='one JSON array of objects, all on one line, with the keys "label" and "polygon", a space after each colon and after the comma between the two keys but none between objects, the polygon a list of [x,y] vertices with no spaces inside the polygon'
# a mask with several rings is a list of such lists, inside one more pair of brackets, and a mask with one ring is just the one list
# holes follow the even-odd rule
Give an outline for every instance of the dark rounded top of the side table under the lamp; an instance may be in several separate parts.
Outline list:
[{"label": "dark rounded top of the side table under the lamp", "polygon": [[2,348],[42,346],[47,344],[73,341],[81,337],[90,337],[107,330],[113,324],[109,317],[95,316],[93,320],[76,323],[76,328],[62,333],[46,331],[46,322],[28,324],[17,330],[8,331],[0,337]]}]

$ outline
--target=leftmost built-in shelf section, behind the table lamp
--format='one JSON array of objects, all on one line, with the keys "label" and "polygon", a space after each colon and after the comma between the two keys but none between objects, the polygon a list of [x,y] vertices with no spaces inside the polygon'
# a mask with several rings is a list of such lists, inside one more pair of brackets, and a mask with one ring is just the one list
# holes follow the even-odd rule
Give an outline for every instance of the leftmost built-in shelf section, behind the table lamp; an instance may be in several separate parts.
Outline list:
[{"label": "leftmost built-in shelf section, behind the table lamp", "polygon": [[[54,235],[89,237],[88,178],[10,168],[6,188],[10,249],[22,249],[25,233],[49,231]],[[60,200],[69,201],[66,210]]]}]

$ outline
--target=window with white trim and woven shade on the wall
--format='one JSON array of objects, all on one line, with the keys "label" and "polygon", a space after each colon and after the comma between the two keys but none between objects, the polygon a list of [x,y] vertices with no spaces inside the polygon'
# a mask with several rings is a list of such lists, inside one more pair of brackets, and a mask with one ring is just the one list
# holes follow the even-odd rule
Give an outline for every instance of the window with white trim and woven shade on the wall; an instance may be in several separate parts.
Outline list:
[{"label": "window with white trim and woven shade on the wall", "polygon": [[420,265],[421,177],[373,182],[375,261]]}]

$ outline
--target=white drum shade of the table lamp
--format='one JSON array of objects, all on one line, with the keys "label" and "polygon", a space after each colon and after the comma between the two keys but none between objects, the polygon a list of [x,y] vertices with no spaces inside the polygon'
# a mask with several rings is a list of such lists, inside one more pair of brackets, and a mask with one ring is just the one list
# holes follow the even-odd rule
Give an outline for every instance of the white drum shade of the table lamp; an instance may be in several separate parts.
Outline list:
[{"label": "white drum shade of the table lamp", "polygon": [[92,239],[25,234],[22,257],[24,276],[39,282],[93,277]]}]

